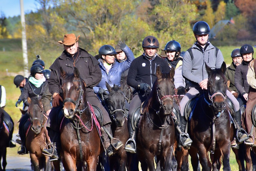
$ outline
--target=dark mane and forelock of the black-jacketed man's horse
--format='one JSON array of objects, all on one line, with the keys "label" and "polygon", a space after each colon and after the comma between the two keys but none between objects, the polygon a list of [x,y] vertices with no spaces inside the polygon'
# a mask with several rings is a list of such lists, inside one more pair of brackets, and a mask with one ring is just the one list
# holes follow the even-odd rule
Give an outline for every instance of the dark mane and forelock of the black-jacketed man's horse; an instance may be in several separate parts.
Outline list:
[{"label": "dark mane and forelock of the black-jacketed man's horse", "polygon": [[[162,77],[160,79],[166,79],[166,82],[173,82],[173,78],[171,78],[169,72],[168,73],[162,73]],[[152,91],[148,96],[148,100],[145,101],[145,106],[144,106],[144,112],[148,112],[149,108],[152,108],[154,104],[154,100],[157,99],[157,82],[158,78],[155,80]]]}]

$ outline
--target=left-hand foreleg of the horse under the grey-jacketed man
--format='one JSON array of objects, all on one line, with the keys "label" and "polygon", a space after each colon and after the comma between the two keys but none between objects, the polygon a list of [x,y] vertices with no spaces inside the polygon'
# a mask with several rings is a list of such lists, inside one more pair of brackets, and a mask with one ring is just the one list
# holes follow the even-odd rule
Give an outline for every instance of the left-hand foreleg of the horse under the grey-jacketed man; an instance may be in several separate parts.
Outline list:
[{"label": "left-hand foreleg of the horse under the grey-jacketed man", "polygon": [[198,146],[198,155],[199,155],[199,161],[202,165],[202,170],[203,171],[208,171],[208,170],[210,171],[212,169],[212,163],[209,160],[208,153],[207,153],[206,148],[203,144],[200,144]]}]

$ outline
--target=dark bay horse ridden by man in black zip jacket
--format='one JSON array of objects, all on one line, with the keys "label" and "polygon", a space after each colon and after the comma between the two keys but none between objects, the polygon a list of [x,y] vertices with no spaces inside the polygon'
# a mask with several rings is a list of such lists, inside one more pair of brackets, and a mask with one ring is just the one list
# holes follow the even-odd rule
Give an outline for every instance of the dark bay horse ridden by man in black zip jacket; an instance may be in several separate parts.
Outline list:
[{"label": "dark bay horse ridden by man in black zip jacket", "polygon": [[142,170],[155,171],[154,157],[157,168],[171,170],[173,144],[175,141],[174,121],[172,119],[174,68],[169,73],[162,73],[160,67],[156,71],[149,99],[145,101],[141,121],[136,136],[137,155]]}]

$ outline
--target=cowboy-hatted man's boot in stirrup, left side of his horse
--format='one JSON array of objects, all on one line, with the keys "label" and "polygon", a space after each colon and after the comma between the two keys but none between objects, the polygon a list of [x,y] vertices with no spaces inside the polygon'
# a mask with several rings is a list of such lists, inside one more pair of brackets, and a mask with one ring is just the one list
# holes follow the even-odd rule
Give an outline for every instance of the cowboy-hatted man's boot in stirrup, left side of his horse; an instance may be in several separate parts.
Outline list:
[{"label": "cowboy-hatted man's boot in stirrup, left side of his horse", "polygon": [[47,149],[45,148],[42,152],[42,154],[46,156],[50,156],[51,161],[53,160],[59,160],[60,156],[60,137],[59,137],[59,132],[54,131],[53,129],[48,129],[48,134],[50,137],[50,140],[52,142],[52,145],[50,145],[50,148]]}]

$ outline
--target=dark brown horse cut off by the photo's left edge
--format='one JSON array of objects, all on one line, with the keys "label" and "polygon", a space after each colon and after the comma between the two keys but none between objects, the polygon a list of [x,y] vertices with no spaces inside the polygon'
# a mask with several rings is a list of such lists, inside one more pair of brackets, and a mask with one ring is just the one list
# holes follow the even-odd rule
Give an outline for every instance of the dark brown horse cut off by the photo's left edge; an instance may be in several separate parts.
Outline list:
[{"label": "dark brown horse cut off by the photo's left edge", "polygon": [[[8,143],[9,143],[9,131],[6,128],[4,122],[4,110],[2,108],[0,108],[0,161],[2,160],[2,166],[0,165],[0,170],[4,170],[5,171],[5,167],[7,165],[6,162],[6,148],[8,147]],[[1,163],[0,163],[1,164]]]}]

